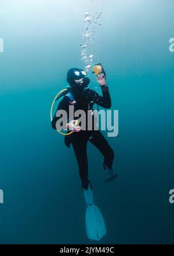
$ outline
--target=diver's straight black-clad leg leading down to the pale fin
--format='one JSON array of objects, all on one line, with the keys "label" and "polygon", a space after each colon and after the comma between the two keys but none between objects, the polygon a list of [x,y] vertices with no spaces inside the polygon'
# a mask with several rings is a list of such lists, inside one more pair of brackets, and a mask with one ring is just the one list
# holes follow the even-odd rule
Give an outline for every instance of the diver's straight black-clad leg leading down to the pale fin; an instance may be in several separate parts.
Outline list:
[{"label": "diver's straight black-clad leg leading down to the pale fin", "polygon": [[75,157],[77,158],[79,166],[79,176],[82,180],[82,187],[88,189],[88,157],[87,157],[87,143],[88,138],[83,136],[83,134],[74,134],[74,139],[72,141]]}]

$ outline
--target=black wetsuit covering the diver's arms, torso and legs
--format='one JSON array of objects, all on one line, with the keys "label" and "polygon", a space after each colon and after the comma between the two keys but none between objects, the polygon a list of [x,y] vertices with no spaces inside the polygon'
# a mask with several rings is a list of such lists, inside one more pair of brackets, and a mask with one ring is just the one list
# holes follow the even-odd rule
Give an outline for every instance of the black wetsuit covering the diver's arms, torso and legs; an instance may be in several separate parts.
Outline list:
[{"label": "black wetsuit covering the diver's arms, torso and legs", "polygon": [[[96,91],[92,89],[87,89],[83,91],[81,95],[74,95],[74,111],[78,109],[84,110],[86,113],[89,109],[93,109],[93,104],[102,106],[103,108],[111,108],[111,97],[108,91],[108,87],[102,87],[102,94],[100,96]],[[63,109],[67,112],[69,111],[69,106],[71,105],[70,98],[65,96],[59,103],[57,111]],[[52,120],[52,127],[56,129],[56,122],[59,118],[56,117],[56,114]],[[114,151],[111,149],[110,145],[107,143],[106,138],[102,135],[99,130],[82,130],[79,133],[74,132],[70,136],[65,136],[65,144],[67,147],[70,147],[70,144],[73,144],[75,157],[77,158],[79,166],[79,175],[82,180],[82,186],[84,189],[88,189],[88,157],[87,157],[87,143],[90,141],[96,148],[102,153],[104,157],[104,165],[108,169],[111,169],[113,166],[114,160]]]}]

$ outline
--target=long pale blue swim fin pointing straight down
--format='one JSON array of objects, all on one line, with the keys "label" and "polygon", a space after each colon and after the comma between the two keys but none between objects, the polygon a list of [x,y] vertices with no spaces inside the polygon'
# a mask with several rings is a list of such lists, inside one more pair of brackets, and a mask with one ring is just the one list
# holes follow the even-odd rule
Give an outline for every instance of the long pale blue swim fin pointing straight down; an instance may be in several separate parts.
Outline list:
[{"label": "long pale blue swim fin pointing straight down", "polygon": [[88,186],[88,190],[84,189],[86,208],[86,233],[90,240],[99,241],[106,234],[106,226],[103,216],[96,205],[93,204],[93,193]]}]

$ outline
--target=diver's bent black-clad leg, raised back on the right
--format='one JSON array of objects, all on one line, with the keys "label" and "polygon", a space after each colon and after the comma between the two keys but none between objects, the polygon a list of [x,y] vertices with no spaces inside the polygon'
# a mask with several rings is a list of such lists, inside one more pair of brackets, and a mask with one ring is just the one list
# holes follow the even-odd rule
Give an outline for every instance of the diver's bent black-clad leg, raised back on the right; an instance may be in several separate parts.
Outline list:
[{"label": "diver's bent black-clad leg, raised back on the right", "polygon": [[112,169],[113,161],[114,161],[114,151],[108,144],[106,138],[104,138],[101,131],[96,130],[93,131],[92,136],[89,138],[89,141],[95,145],[96,148],[102,153],[104,157],[104,165],[107,166],[108,169]]}]

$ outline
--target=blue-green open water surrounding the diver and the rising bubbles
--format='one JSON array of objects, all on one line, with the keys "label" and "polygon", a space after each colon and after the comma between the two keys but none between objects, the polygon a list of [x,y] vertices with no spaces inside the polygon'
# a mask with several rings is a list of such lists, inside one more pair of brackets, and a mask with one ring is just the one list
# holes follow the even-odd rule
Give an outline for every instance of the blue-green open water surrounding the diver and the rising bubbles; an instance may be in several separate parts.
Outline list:
[{"label": "blue-green open water surrounding the diver and the rising bubbles", "polygon": [[[107,138],[119,177],[104,183],[88,144],[89,180],[107,233],[90,241],[73,148],[50,106],[81,61],[84,13],[102,11],[93,62],[102,62],[119,134]],[[174,241],[173,0],[1,0],[1,244],[169,244]],[[89,70],[90,86],[99,86]],[[103,134],[107,136],[107,132]]]}]

